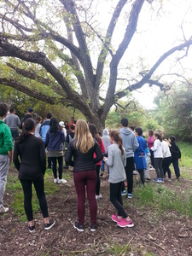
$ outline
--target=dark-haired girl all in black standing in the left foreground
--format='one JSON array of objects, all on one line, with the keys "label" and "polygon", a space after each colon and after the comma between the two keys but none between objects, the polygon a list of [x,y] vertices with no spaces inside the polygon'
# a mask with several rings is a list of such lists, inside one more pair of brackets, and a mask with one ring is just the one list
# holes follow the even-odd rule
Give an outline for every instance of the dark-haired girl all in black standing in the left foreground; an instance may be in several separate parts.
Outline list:
[{"label": "dark-haired girl all in black standing in the left foreground", "polygon": [[24,207],[31,233],[35,231],[35,222],[32,216],[32,183],[44,216],[44,230],[49,230],[55,224],[54,220],[49,220],[47,201],[44,195],[44,172],[46,170],[44,142],[33,135],[34,131],[34,120],[26,119],[14,148],[14,164],[19,171],[18,177],[24,192]]}]

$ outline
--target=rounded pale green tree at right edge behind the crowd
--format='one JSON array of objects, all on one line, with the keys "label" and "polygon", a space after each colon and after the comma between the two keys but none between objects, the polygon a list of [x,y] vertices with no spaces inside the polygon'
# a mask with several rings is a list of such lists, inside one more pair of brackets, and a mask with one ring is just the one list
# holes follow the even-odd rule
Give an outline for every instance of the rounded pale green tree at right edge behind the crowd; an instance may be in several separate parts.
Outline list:
[{"label": "rounded pale green tree at right edge behind the crowd", "polygon": [[155,102],[154,119],[164,127],[166,137],[174,135],[192,142],[192,84],[174,85],[168,95],[161,93]]}]

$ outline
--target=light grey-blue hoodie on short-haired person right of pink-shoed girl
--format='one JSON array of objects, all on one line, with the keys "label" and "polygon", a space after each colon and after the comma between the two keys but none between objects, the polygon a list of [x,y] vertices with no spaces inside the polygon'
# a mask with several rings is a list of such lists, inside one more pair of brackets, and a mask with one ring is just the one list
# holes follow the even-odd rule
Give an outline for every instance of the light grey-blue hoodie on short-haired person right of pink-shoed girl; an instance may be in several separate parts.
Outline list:
[{"label": "light grey-blue hoodie on short-haired person right of pink-shoed girl", "polygon": [[134,152],[139,146],[135,134],[127,127],[121,128],[119,132],[125,148],[126,158],[134,157]]}]

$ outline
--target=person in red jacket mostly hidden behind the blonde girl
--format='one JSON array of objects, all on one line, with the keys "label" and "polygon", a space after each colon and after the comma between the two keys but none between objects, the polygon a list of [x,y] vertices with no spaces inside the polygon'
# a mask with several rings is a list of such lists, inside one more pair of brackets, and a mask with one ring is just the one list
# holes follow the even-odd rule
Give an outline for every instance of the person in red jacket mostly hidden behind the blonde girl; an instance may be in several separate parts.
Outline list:
[{"label": "person in red jacket mostly hidden behind the blonde girl", "polygon": [[[96,142],[99,144],[99,147],[102,149],[102,153],[105,153],[105,146],[102,141],[102,137],[100,137],[100,135],[96,129],[96,125],[90,124],[89,129],[90,129],[90,133],[91,133],[92,137],[95,138]],[[96,155],[94,155],[94,158],[95,157],[96,157]],[[102,161],[96,163],[96,200],[102,198],[102,195],[100,194],[100,177],[99,177],[99,172],[100,172],[101,166],[102,166]]]}]

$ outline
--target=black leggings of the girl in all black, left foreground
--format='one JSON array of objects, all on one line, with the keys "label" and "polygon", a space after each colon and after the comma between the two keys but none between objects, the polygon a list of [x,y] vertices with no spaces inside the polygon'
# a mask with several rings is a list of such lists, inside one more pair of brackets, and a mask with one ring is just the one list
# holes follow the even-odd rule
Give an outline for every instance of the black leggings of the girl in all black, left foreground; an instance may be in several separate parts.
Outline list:
[{"label": "black leggings of the girl in all black, left foreground", "polygon": [[23,187],[24,192],[24,208],[26,212],[26,218],[28,221],[33,219],[32,216],[32,183],[35,187],[36,193],[38,195],[38,201],[41,208],[41,212],[44,218],[47,218],[48,215],[48,207],[47,201],[44,195],[44,180],[25,180],[20,179],[20,183]]}]

